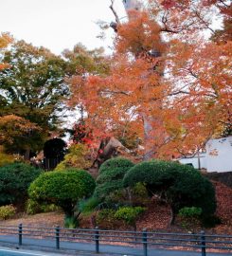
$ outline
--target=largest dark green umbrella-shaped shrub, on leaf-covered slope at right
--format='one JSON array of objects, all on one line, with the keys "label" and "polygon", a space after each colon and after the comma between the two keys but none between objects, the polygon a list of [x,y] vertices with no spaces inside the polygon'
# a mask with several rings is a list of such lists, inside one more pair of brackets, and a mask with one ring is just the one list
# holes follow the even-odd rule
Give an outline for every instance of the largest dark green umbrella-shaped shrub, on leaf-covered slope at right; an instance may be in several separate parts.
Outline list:
[{"label": "largest dark green umbrella-shaped shrub, on leaf-covered slope at right", "polygon": [[212,183],[194,168],[176,162],[152,160],[135,165],[125,174],[125,187],[142,182],[151,196],[165,201],[171,210],[170,224],[184,207],[202,209],[202,217],[216,210]]}]

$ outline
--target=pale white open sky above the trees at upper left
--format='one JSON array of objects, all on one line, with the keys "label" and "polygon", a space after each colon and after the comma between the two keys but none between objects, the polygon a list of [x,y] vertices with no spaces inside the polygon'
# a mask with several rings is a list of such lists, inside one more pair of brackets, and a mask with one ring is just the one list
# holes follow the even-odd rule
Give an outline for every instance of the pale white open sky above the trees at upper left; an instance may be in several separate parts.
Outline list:
[{"label": "pale white open sky above the trees at upper left", "polygon": [[[114,32],[109,29],[102,41],[96,24],[115,21],[110,4],[111,0],[0,0],[0,32],[56,54],[77,43],[88,49],[104,46],[110,52]],[[115,8],[125,16],[121,0],[115,0]]]}]

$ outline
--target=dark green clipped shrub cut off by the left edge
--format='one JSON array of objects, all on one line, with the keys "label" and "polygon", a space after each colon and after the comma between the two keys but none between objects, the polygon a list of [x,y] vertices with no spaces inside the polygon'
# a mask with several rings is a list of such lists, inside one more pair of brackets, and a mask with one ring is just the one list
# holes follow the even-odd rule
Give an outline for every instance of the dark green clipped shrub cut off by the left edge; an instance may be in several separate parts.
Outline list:
[{"label": "dark green clipped shrub cut off by the left edge", "polygon": [[0,206],[24,203],[30,183],[41,173],[42,170],[25,163],[0,167]]}]

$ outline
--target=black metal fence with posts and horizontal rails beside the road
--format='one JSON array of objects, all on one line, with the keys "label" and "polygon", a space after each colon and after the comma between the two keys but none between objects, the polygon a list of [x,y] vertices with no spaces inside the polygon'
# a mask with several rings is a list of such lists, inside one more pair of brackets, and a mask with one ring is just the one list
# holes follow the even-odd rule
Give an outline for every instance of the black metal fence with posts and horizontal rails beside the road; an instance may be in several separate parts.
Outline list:
[{"label": "black metal fence with posts and horizontal rails beside the road", "polygon": [[153,248],[191,249],[205,256],[206,251],[232,252],[232,235],[210,235],[204,231],[200,233],[165,233],[142,231],[121,231],[98,229],[62,229],[28,227],[20,224],[16,226],[0,225],[1,240],[6,235],[14,235],[18,246],[24,245],[24,238],[51,239],[54,247],[61,248],[61,241],[75,243],[94,243],[95,252],[99,253],[102,245],[134,246],[143,250],[148,256]]}]

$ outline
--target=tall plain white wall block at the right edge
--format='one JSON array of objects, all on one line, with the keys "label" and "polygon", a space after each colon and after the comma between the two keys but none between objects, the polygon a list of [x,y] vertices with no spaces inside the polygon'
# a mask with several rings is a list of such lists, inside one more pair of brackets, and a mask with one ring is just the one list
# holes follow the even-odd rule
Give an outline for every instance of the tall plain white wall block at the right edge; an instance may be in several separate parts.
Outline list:
[{"label": "tall plain white wall block at the right edge", "polygon": [[207,172],[232,172],[232,136],[206,143]]}]

